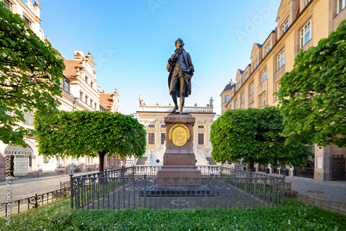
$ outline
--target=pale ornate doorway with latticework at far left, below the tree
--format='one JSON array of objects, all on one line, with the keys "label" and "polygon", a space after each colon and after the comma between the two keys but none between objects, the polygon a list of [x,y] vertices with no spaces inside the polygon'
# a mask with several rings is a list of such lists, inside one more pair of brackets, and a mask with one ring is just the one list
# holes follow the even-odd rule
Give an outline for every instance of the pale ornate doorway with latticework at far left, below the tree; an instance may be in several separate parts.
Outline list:
[{"label": "pale ornate doorway with latticework at far left, below the tree", "polygon": [[31,172],[30,162],[33,150],[30,147],[8,145],[5,149],[5,155],[10,155],[11,176],[24,176]]}]

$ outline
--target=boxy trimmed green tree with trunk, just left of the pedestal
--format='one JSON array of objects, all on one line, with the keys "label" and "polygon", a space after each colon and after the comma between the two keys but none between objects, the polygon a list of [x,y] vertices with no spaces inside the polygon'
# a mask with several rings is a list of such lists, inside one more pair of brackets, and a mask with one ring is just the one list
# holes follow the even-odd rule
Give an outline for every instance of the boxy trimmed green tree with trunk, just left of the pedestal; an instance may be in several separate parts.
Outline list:
[{"label": "boxy trimmed green tree with trunk, just left of the pedestal", "polygon": [[35,129],[39,154],[47,157],[104,156],[140,158],[145,153],[146,131],[131,117],[110,111],[60,111],[36,113]]}]

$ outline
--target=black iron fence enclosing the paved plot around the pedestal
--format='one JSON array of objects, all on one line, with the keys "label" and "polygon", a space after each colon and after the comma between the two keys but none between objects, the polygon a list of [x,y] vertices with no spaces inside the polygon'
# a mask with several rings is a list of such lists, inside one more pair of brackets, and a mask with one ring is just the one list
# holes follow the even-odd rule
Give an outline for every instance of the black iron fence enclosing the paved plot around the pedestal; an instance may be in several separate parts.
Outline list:
[{"label": "black iron fence enclosing the paved plot around the pedestal", "polygon": [[284,177],[228,167],[201,167],[201,178],[158,178],[159,167],[128,167],[71,175],[71,207],[155,210],[284,204]]}]

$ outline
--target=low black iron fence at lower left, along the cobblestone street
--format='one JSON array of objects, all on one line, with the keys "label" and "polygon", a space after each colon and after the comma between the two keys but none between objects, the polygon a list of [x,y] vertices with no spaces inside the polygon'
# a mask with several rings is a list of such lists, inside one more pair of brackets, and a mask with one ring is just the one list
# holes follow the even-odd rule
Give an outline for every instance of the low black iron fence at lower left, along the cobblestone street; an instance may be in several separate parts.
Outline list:
[{"label": "low black iron fence at lower left, along the cobblestone street", "polygon": [[[63,185],[67,185],[67,182]],[[39,206],[52,203],[69,195],[70,186],[67,186],[60,188],[60,190],[54,190],[44,194],[35,194],[35,196],[15,201],[6,201],[5,203],[0,203],[0,217],[7,216],[8,214],[18,214],[20,212],[33,210]]]}]

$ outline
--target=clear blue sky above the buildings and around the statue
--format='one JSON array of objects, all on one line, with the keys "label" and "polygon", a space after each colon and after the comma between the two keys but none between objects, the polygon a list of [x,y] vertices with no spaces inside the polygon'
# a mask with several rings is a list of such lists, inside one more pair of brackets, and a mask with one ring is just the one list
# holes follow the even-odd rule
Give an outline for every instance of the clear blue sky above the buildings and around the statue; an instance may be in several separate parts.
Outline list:
[{"label": "clear blue sky above the buildings and around the statue", "polygon": [[122,113],[172,102],[167,59],[174,41],[185,43],[194,64],[192,94],[185,105],[205,107],[210,97],[221,113],[224,86],[250,63],[254,43],[276,27],[280,0],[41,0],[42,28],[66,59],[89,50],[100,91],[117,87]]}]

